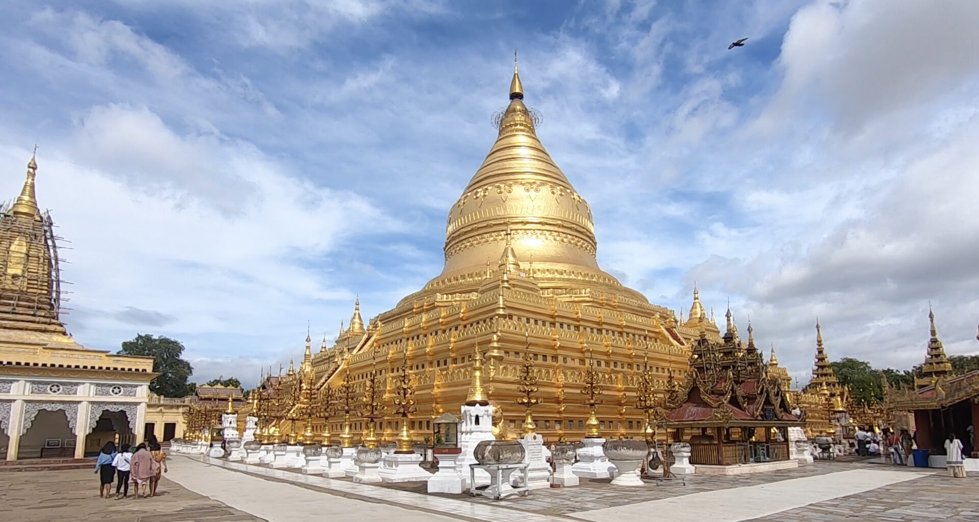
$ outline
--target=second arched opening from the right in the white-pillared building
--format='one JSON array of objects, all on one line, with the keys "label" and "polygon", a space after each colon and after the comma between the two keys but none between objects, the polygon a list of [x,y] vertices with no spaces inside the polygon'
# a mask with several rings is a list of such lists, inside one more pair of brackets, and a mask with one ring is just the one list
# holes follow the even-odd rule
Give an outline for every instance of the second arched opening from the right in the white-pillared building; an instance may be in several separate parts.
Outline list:
[{"label": "second arched opening from the right in the white-pillared building", "polygon": [[18,458],[74,456],[78,403],[24,403]]}]

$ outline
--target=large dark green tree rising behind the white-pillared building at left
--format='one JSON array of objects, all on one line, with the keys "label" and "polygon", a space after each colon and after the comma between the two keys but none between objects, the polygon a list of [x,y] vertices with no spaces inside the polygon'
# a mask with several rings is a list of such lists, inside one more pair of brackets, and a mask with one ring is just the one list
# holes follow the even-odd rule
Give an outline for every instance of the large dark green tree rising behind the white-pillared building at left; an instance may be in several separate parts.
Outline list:
[{"label": "large dark green tree rising behind the white-pillared building at left", "polygon": [[168,337],[138,334],[132,341],[124,341],[120,356],[151,356],[153,371],[160,375],[150,383],[150,391],[163,397],[186,397],[194,393],[194,385],[188,383],[194,368],[180,358],[184,347]]}]

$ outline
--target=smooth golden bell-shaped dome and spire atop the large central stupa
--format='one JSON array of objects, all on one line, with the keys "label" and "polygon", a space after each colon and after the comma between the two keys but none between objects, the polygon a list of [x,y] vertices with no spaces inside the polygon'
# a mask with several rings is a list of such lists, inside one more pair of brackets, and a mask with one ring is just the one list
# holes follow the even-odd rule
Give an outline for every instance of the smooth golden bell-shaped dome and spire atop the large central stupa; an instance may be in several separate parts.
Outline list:
[{"label": "smooth golden bell-shaped dome and spire atop the large central stupa", "polygon": [[591,209],[540,143],[523,98],[515,69],[496,141],[448,212],[443,272],[422,293],[476,290],[509,238],[542,290],[587,288],[647,303],[598,267]]}]

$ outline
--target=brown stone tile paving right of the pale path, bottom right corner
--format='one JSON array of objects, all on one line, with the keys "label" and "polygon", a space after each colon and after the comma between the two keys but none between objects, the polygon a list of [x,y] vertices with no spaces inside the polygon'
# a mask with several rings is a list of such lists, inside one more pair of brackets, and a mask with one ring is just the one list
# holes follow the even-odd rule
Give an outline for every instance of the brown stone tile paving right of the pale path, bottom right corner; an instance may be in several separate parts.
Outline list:
[{"label": "brown stone tile paving right of the pale path, bottom right corner", "polygon": [[979,522],[979,476],[934,475],[884,486],[860,495],[833,498],[756,518],[753,522],[881,521]]}]

